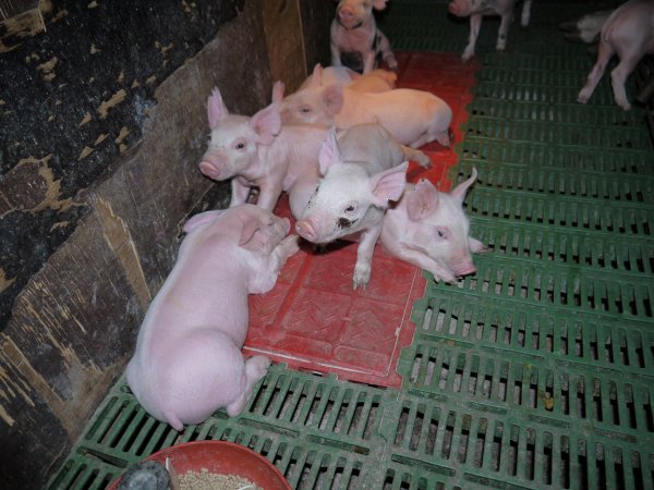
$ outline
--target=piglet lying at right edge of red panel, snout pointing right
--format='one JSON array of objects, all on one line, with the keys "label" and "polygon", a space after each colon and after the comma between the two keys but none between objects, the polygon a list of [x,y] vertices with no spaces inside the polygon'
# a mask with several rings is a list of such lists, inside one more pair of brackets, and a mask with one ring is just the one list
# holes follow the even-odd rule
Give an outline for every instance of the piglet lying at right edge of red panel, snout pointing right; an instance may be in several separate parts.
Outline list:
[{"label": "piglet lying at right edge of red panel, snout pointing right", "polygon": [[469,235],[463,213],[465,193],[476,180],[476,170],[449,194],[439,193],[429,181],[407,184],[401,200],[386,211],[380,242],[392,256],[434,274],[436,281],[453,282],[476,271],[472,253],[484,245]]}]

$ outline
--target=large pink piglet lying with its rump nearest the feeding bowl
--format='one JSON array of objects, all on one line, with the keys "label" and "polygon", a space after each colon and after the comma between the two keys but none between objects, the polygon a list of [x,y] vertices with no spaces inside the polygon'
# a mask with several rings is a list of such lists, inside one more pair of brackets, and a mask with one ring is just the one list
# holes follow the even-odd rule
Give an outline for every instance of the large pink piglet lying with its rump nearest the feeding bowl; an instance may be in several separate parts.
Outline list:
[{"label": "large pink piglet lying with its rump nearest the feeding bowl", "polygon": [[298,252],[290,223],[256,206],[191,218],[177,264],[145,316],[126,378],[136,400],[175,430],[220,407],[243,411],[270,360],[243,360],[247,294],[272,289]]}]

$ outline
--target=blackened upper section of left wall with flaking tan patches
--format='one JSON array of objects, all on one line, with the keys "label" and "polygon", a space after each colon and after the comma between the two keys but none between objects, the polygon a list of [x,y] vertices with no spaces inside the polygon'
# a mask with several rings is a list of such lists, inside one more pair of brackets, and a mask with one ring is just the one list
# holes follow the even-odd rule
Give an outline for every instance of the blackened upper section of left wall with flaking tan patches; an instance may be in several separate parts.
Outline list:
[{"label": "blackened upper section of left wall with flaking tan patches", "polygon": [[[138,142],[155,90],[244,0],[41,2],[47,30],[0,41],[0,330],[88,212],[83,193]],[[81,194],[82,192],[82,194]]]}]

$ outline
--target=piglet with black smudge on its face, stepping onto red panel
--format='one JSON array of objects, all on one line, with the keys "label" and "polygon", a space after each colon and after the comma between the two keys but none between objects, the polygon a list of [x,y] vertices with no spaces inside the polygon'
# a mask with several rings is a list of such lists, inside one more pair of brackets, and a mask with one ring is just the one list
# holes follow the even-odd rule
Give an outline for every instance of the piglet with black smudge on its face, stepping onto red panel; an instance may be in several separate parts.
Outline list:
[{"label": "piglet with black smudge on its face, stepping onto red panel", "polygon": [[295,223],[298,234],[316,244],[361,233],[354,289],[370,281],[384,212],[389,200],[400,198],[407,182],[409,163],[401,162],[401,146],[389,146],[390,139],[380,125],[365,124],[347,131],[337,144],[332,128],[318,158],[324,176]]}]

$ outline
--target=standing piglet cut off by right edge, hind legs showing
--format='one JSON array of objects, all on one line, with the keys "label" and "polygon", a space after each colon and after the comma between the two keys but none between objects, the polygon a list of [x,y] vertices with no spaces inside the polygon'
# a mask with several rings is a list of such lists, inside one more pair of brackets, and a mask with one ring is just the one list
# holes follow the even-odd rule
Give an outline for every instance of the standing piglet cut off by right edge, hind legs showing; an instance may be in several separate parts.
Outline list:
[{"label": "standing piglet cut off by right edge, hind legs showing", "polygon": [[618,7],[602,26],[597,61],[577,100],[589,101],[606,65],[614,54],[618,54],[620,63],[610,72],[614,98],[626,111],[631,109],[625,82],[646,53],[654,53],[654,0],[630,0]]}]

